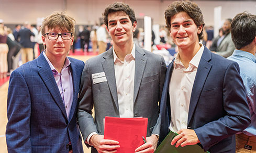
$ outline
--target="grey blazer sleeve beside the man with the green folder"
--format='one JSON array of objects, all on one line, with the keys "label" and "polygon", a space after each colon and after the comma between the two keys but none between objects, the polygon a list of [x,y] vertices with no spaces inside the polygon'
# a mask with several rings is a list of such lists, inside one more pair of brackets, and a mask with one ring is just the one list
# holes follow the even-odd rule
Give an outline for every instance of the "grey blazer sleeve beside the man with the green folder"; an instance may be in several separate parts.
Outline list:
[{"label": "grey blazer sleeve beside the man with the green folder", "polygon": [[159,105],[158,105],[159,116],[158,116],[157,123],[155,124],[154,129],[152,131],[152,134],[157,134],[157,135],[160,134],[160,126],[161,126],[160,103],[161,103],[161,97],[163,92],[165,74],[166,74],[166,64],[165,64],[164,58],[161,57],[160,76],[159,76]]}]

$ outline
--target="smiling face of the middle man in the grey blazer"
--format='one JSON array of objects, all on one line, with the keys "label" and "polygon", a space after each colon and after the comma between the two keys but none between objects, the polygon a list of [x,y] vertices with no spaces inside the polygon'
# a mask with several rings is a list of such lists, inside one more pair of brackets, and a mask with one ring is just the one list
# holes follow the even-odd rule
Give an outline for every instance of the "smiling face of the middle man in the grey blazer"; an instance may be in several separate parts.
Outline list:
[{"label": "smiling face of the middle man in the grey blazer", "polygon": [[133,43],[133,32],[136,30],[137,22],[131,23],[127,14],[117,11],[108,14],[108,33],[114,45],[124,45]]}]

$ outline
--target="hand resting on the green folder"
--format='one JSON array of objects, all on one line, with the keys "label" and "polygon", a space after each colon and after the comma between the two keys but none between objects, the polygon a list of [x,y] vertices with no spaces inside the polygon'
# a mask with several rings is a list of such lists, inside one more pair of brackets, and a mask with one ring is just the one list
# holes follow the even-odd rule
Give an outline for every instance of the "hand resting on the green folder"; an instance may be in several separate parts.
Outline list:
[{"label": "hand resting on the green folder", "polygon": [[199,139],[194,130],[181,129],[177,134],[179,135],[175,136],[171,142],[171,145],[174,145],[177,142],[175,147],[179,147],[180,145],[184,147],[186,145],[195,145],[199,143]]}]

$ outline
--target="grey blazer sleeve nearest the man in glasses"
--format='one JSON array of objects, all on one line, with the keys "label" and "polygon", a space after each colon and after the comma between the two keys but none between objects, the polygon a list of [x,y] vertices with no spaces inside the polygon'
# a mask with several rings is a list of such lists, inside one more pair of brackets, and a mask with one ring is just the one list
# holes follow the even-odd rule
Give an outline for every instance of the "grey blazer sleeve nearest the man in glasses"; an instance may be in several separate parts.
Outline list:
[{"label": "grey blazer sleeve nearest the man in glasses", "polygon": [[78,98],[79,106],[77,110],[77,120],[81,133],[83,135],[84,141],[88,135],[92,132],[97,133],[96,125],[94,124],[94,119],[92,116],[93,109],[93,94],[92,94],[92,81],[91,74],[89,70],[88,60],[85,63],[83,73],[81,76],[81,86]]}]

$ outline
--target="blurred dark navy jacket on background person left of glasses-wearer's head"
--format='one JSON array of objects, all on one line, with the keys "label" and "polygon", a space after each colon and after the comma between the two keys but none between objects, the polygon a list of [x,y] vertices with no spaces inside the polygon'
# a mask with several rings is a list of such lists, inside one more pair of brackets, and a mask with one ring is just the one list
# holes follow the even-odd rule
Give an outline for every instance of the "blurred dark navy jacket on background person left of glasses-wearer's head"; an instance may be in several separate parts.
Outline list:
[{"label": "blurred dark navy jacket on background person left of glasses-wearer's head", "polygon": [[30,36],[35,36],[35,34],[27,29],[20,29],[18,32],[18,37],[20,37],[20,44],[24,47],[24,48],[33,48],[33,43],[30,40]]}]

